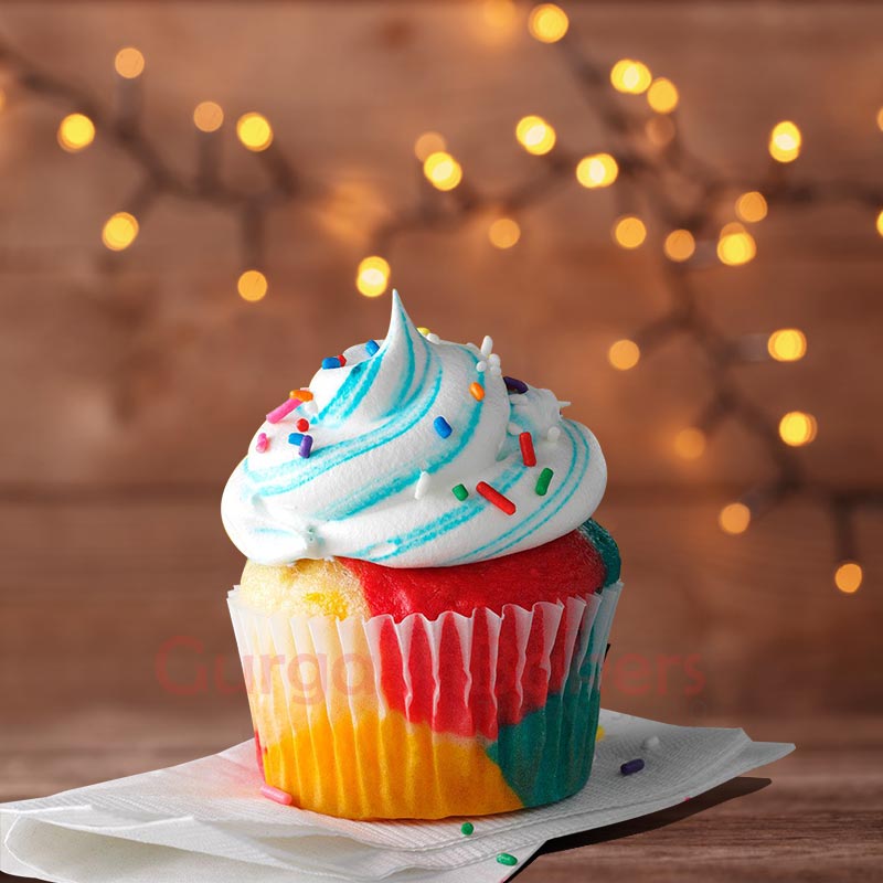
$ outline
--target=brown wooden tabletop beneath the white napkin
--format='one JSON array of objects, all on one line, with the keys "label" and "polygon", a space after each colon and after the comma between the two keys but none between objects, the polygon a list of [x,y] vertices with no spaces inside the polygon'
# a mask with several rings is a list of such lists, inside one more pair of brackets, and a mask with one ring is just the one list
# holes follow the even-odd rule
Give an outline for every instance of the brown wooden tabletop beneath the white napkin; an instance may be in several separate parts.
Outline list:
[{"label": "brown wooden tabletop beneath the white napkin", "polygon": [[[247,735],[247,720],[236,713],[209,728],[142,712],[95,711],[56,723],[0,735],[0,800],[183,762]],[[758,721],[745,728],[792,738],[798,749],[682,806],[551,841],[518,874],[520,883],[879,880],[883,719]]]}]

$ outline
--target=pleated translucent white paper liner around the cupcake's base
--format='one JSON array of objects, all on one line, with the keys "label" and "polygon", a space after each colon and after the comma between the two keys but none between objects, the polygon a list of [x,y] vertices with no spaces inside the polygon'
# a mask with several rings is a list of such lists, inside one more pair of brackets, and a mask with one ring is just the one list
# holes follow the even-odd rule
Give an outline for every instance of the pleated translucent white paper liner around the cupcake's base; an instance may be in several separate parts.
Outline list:
[{"label": "pleated translucent white paper liner around the cupcake's base", "polygon": [[267,615],[234,589],[266,783],[347,818],[476,816],[574,794],[620,591],[396,623]]}]

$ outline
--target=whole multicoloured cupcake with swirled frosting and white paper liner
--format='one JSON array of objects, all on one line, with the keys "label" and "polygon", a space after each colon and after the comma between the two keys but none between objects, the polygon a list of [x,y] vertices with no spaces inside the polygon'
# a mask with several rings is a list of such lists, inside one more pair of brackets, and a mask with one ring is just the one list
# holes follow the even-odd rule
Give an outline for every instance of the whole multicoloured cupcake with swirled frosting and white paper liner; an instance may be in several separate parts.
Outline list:
[{"label": "whole multicoloured cupcake with swirled frosting and white paper liner", "polygon": [[322,361],[227,482],[228,604],[265,794],[332,816],[478,816],[588,780],[619,554],[606,466],[493,342]]}]

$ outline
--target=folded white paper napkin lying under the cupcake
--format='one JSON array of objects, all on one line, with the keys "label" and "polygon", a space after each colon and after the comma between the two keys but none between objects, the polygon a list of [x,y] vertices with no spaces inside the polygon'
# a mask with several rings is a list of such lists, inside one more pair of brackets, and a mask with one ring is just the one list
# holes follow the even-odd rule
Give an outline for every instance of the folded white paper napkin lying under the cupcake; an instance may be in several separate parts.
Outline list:
[{"label": "folded white paper napkin lying under the cupcake", "polygon": [[[588,785],[538,809],[442,821],[349,821],[258,794],[254,744],[168,769],[0,805],[0,870],[64,883],[490,883],[546,840],[680,804],[794,751],[742,730],[602,711]],[[620,764],[645,768],[623,775]],[[518,865],[500,864],[509,853]],[[292,877],[292,873],[295,876]]]}]

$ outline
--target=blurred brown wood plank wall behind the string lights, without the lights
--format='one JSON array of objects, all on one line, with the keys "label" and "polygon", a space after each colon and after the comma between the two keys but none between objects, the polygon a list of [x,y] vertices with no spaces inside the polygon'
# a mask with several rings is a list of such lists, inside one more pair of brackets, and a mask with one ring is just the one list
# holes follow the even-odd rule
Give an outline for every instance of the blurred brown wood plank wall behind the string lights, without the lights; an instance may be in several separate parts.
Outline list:
[{"label": "blurred brown wood plank wall behind the string lights, without the lights", "polygon": [[[703,0],[570,11],[597,57],[640,57],[670,76],[693,150],[746,184],[763,175],[767,132],[781,118],[804,129],[798,175],[880,182],[880,7]],[[235,295],[237,231],[216,210],[163,200],[132,248],[104,252],[102,223],[138,170],[100,131],[89,150],[62,153],[55,128],[71,108],[6,84],[0,799],[247,735],[244,700],[225,687],[236,660],[224,597],[242,562],[221,528],[221,490],[281,392],[322,355],[383,333],[389,298],[360,297],[352,277],[372,231],[416,196],[414,138],[443,131],[488,191],[531,173],[512,137],[523,114],[554,121],[574,150],[605,147],[561,60],[526,36],[523,17],[494,29],[480,2],[0,10],[11,45],[108,104],[114,53],[139,46],[145,125],[175,168],[194,168],[190,115],[212,98],[230,120],[267,114],[315,191],[272,214],[270,291],[245,304]],[[258,163],[230,131],[224,147],[231,180],[259,184]],[[421,323],[453,339],[491,333],[507,370],[572,400],[572,416],[602,440],[610,487],[598,517],[621,544],[627,581],[606,705],[673,722],[754,722],[753,735],[767,738],[811,741],[820,727],[844,744],[879,740],[883,517],[859,519],[865,584],[854,596],[833,588],[832,536],[812,500],[790,501],[743,536],[719,531],[720,507],[769,467],[733,426],[700,461],[673,458],[672,436],[709,392],[688,343],[625,374],[607,365],[609,342],[667,304],[656,258],[664,231],[651,228],[636,253],[618,251],[608,235],[616,211],[613,192],[574,184],[521,219],[511,252],[488,245],[488,217],[406,235],[391,255],[395,280]],[[879,487],[883,241],[873,214],[783,210],[756,237],[755,262],[702,274],[706,309],[734,333],[799,326],[809,353],[746,366],[740,384],[773,415],[817,415],[818,439],[800,453],[813,476]],[[163,656],[174,636],[201,649],[179,642]],[[158,655],[175,682],[215,660],[225,677],[178,695],[158,680]],[[99,762],[89,759],[96,738]],[[811,767],[819,775],[838,737],[826,738],[827,759]],[[859,777],[865,755],[851,756]],[[542,866],[552,873],[554,857]],[[532,877],[535,869],[524,879],[570,879]]]}]

